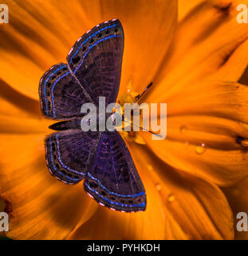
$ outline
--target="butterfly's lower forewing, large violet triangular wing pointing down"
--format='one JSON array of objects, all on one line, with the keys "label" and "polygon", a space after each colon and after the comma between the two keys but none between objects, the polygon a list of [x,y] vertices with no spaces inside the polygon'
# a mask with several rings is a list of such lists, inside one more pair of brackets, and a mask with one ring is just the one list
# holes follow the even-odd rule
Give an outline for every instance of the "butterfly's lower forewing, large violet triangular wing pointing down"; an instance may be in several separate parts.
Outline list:
[{"label": "butterfly's lower forewing, large violet triangular wing pointing down", "polygon": [[102,135],[95,159],[85,178],[85,191],[113,210],[145,210],[144,186],[118,132]]}]

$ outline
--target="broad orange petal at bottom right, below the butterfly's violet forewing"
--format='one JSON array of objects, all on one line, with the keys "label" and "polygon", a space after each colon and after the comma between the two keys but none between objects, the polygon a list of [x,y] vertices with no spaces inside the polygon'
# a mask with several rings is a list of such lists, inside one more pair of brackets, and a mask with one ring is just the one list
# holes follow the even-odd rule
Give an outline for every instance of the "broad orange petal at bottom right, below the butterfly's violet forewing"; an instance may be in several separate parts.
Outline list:
[{"label": "broad orange petal at bottom right, below the butterfly's violet forewing", "polygon": [[130,147],[147,192],[147,210],[124,214],[100,208],[70,238],[233,238],[231,211],[217,186],[200,178],[181,176],[144,146],[132,143]]}]

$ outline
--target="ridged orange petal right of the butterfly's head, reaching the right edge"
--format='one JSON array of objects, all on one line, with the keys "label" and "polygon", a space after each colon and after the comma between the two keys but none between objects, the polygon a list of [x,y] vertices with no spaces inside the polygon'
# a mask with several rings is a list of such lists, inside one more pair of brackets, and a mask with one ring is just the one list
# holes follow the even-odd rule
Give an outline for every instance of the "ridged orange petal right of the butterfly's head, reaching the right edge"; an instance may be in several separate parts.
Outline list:
[{"label": "ridged orange petal right of the butterfly's head, reaching the right edge", "polygon": [[[236,142],[247,139],[248,88],[235,82],[187,86],[167,102],[167,138],[145,141],[171,166],[227,186],[248,174],[248,151]],[[182,129],[187,129],[182,133]],[[203,147],[201,147],[203,145]]]}]

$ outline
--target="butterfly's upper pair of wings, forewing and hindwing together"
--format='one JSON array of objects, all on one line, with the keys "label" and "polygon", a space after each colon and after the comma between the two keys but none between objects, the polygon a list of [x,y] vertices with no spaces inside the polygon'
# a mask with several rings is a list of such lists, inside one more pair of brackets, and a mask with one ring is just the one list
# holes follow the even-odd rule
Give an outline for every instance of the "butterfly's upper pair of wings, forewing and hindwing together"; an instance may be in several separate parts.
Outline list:
[{"label": "butterfly's upper pair of wings, forewing and hindwing together", "polygon": [[52,66],[39,86],[41,111],[54,119],[80,114],[82,104],[116,102],[120,86],[124,33],[120,21],[104,22],[83,35],[70,51],[68,64]]}]

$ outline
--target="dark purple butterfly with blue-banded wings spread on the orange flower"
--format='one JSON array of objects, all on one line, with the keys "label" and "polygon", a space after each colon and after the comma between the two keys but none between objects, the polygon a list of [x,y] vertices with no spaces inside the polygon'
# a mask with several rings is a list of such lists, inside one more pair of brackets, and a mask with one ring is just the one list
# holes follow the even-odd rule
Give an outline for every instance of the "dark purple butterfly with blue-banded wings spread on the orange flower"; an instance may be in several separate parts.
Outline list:
[{"label": "dark purple butterfly with blue-banded wings spread on the orange flower", "polygon": [[120,134],[81,130],[81,106],[100,96],[116,102],[124,51],[118,19],[103,22],[77,40],[67,63],[52,66],[39,84],[41,112],[62,120],[49,128],[45,158],[50,174],[66,184],[84,180],[85,192],[112,210],[146,209],[146,194]]}]

